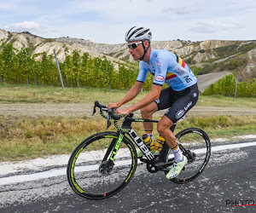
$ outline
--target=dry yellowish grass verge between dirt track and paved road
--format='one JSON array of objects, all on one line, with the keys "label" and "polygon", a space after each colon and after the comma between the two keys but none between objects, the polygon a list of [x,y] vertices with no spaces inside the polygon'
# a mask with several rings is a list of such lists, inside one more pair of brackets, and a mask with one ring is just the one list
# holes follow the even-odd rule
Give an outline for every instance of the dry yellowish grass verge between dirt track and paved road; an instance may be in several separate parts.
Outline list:
[{"label": "dry yellowish grass verge between dirt track and paved road", "polygon": [[[158,118],[157,118],[158,119]],[[54,154],[71,154],[86,137],[104,131],[107,121],[102,118],[0,118],[0,161],[15,161]],[[132,125],[138,135],[143,125]],[[197,127],[210,139],[256,132],[256,116],[188,116],[177,124],[179,130]],[[154,125],[154,137],[157,137]],[[113,125],[109,130],[115,130]]]}]

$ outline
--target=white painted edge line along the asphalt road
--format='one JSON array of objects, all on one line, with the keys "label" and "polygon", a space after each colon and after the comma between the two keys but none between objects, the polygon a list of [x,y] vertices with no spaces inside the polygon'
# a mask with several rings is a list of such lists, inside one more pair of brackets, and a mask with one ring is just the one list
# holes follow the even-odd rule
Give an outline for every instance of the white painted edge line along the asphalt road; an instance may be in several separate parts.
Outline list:
[{"label": "white painted edge line along the asphalt road", "polygon": [[[212,153],[226,150],[226,149],[253,147],[253,146],[256,146],[256,141],[247,142],[247,143],[230,144],[230,145],[224,145],[224,146],[216,146],[216,147],[212,147]],[[195,150],[195,153],[201,153],[201,149]],[[123,165],[128,163],[127,161],[122,160],[122,161],[119,161],[118,164]],[[97,166],[96,165],[90,165],[90,167],[83,166],[79,168],[79,170],[82,170],[82,171],[97,170]],[[3,177],[3,178],[0,178],[0,186],[15,184],[19,182],[25,182],[25,181],[37,181],[40,179],[46,179],[46,178],[55,177],[55,176],[66,176],[66,172],[67,172],[67,169],[65,168],[65,169],[58,169],[58,170],[48,170],[48,171],[38,172],[30,175]]]}]

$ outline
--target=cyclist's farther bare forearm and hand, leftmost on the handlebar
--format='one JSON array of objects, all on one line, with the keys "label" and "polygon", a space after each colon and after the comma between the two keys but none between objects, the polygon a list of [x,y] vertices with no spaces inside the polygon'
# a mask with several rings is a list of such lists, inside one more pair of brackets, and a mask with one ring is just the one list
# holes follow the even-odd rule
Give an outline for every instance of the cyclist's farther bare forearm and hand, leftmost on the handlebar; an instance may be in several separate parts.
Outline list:
[{"label": "cyclist's farther bare forearm and hand, leftmost on the handlebar", "polygon": [[133,100],[139,94],[142,88],[143,82],[137,81],[119,102],[109,103],[108,108],[118,108],[124,105],[125,103]]}]

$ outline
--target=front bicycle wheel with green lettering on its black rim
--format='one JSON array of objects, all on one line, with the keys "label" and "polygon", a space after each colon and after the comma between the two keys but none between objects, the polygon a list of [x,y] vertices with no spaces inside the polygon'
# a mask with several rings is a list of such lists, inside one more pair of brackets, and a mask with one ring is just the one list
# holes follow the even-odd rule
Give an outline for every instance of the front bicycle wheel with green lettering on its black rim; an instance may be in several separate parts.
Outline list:
[{"label": "front bicycle wheel with green lettering on its black rim", "polygon": [[112,153],[113,148],[108,147],[116,144],[118,136],[112,131],[97,133],[74,149],[67,164],[67,180],[75,193],[86,199],[107,199],[131,181],[137,168],[137,153],[126,136],[120,141],[113,168],[102,172],[102,166],[107,164],[102,161],[103,156],[107,150]]}]

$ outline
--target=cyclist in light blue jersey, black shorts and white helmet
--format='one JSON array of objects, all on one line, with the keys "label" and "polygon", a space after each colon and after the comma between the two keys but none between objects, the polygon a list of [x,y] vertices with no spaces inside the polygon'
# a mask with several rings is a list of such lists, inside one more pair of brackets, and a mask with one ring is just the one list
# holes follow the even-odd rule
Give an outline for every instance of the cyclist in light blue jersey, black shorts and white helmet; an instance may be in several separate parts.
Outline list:
[{"label": "cyclist in light blue jersey, black shorts and white helmet", "polygon": [[[199,92],[197,78],[195,78],[189,66],[172,52],[165,49],[151,49],[151,37],[150,29],[140,26],[133,26],[125,33],[129,53],[134,60],[140,60],[139,73],[136,83],[126,95],[117,103],[108,103],[108,108],[117,108],[117,114],[123,115],[141,109],[144,119],[152,119],[154,112],[168,108],[157,124],[157,131],[162,141],[166,141],[174,154],[174,164],[166,174],[166,178],[171,179],[181,172],[188,159],[183,156],[179,149],[176,137],[170,127],[195,106]],[[130,107],[122,108],[122,105],[133,100],[139,94],[148,72],[154,75],[153,84],[148,95]],[[169,87],[162,89],[164,83]],[[153,138],[153,124],[143,123],[143,127],[145,134]],[[161,142],[161,140],[158,141]],[[152,153],[154,152],[152,151]],[[138,152],[137,154],[138,157],[142,157],[139,156],[142,153]]]}]

